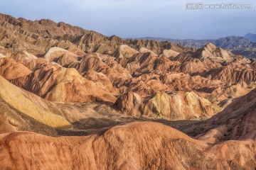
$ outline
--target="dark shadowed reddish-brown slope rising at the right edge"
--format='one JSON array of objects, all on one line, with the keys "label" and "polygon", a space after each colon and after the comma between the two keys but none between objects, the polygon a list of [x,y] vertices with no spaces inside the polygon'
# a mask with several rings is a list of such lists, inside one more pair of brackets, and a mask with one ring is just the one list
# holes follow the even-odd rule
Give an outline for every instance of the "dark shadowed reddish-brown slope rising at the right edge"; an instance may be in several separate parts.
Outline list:
[{"label": "dark shadowed reddish-brown slope rising at the right edge", "polygon": [[[255,140],[256,89],[237,98],[222,112],[194,126],[193,135],[201,140],[220,142],[225,140]],[[201,134],[198,134],[201,133]]]}]

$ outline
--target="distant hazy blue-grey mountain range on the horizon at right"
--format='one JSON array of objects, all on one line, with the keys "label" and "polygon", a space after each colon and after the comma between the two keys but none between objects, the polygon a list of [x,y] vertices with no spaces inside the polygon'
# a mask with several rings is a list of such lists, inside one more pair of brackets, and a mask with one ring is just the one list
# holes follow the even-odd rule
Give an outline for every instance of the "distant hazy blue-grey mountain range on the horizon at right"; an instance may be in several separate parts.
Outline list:
[{"label": "distant hazy blue-grey mountain range on the horizon at right", "polygon": [[194,40],[194,39],[186,39],[186,40],[177,40],[171,38],[135,38],[139,40],[156,40],[156,41],[168,41],[174,42],[178,45],[182,45],[184,47],[195,47],[202,48],[208,42],[213,43],[218,47],[222,47],[225,50],[230,50],[235,55],[243,55],[245,57],[256,58],[256,34],[247,33],[244,37],[241,36],[229,36],[225,38],[214,39],[206,39],[206,40]]}]

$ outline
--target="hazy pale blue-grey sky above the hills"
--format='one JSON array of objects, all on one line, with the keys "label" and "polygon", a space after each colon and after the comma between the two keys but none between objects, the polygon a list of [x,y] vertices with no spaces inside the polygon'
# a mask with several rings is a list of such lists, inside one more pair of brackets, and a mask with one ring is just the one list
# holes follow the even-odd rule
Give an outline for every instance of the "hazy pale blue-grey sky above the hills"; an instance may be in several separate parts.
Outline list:
[{"label": "hazy pale blue-grey sky above the hills", "polygon": [[[252,4],[251,9],[186,9],[203,4]],[[256,33],[255,0],[0,0],[0,13],[50,18],[122,38],[220,38]]]}]

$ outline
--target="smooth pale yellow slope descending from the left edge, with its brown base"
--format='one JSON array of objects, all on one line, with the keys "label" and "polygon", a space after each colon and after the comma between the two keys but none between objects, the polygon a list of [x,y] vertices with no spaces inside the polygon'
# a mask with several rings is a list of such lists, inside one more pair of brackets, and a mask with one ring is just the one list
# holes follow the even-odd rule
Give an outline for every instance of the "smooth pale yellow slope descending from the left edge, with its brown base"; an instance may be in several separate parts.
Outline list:
[{"label": "smooth pale yellow slope descending from the left edge, with its brown base", "polygon": [[1,133],[28,130],[49,134],[55,128],[72,127],[48,101],[19,89],[3,77],[0,87]]}]

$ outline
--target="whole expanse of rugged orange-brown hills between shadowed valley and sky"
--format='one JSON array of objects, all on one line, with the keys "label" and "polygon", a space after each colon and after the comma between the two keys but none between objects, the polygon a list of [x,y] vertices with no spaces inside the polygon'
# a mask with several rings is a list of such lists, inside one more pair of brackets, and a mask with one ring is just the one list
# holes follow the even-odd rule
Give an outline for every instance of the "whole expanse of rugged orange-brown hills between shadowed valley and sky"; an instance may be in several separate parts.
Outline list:
[{"label": "whole expanse of rugged orange-brown hills between shadowed valley and sky", "polygon": [[[0,23],[1,76],[50,101],[115,103],[124,115],[137,117],[204,119],[255,87],[255,64],[213,44],[194,51],[4,14]],[[242,86],[244,93],[225,94],[231,86]],[[131,93],[142,100],[127,111],[133,101],[122,98]],[[163,93],[164,113],[153,104]]]}]

